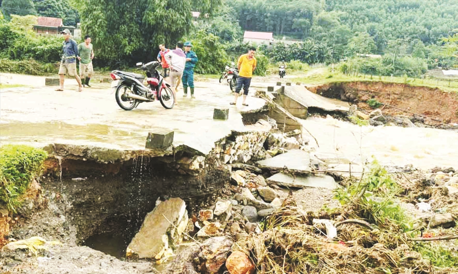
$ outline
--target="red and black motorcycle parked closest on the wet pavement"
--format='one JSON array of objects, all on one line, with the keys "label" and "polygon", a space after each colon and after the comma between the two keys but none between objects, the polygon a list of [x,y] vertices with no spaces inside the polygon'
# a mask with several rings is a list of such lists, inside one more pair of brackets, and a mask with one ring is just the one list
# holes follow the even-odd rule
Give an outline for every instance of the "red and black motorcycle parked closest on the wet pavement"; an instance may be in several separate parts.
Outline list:
[{"label": "red and black motorcycle parked closest on the wet pavement", "polygon": [[113,70],[110,74],[111,87],[116,91],[115,97],[118,105],[124,110],[132,110],[142,102],[159,100],[163,107],[169,109],[174,106],[174,94],[169,83],[159,73],[157,68],[161,65],[158,61],[147,64],[137,63],[141,70],[146,71],[147,85],[143,85],[145,75],[132,72]]}]

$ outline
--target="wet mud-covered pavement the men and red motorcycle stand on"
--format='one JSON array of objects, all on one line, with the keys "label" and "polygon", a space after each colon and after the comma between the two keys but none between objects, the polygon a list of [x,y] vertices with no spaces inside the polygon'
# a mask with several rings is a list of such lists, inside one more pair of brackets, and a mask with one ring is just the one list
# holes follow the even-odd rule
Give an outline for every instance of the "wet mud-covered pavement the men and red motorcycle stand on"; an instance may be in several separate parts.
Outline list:
[{"label": "wet mud-covered pavement the men and red motorcycle stand on", "polygon": [[[207,153],[214,141],[230,130],[244,130],[240,112],[264,106],[264,100],[255,97],[249,98],[248,107],[242,106],[241,98],[236,107],[231,106],[229,86],[206,79],[196,81],[196,99],[183,97],[180,90],[178,105],[173,109],[164,109],[160,102],[149,102],[125,111],[116,104],[110,83],[93,81],[92,87],[77,92],[76,81],[66,79],[65,91],[55,91],[55,86],[44,86],[44,79],[2,73],[2,83],[27,86],[1,89],[1,142],[142,150],[148,132],[174,131],[175,146],[185,144]],[[255,92],[256,88],[251,88],[251,95]],[[229,119],[213,120],[214,108],[229,108]]]}]

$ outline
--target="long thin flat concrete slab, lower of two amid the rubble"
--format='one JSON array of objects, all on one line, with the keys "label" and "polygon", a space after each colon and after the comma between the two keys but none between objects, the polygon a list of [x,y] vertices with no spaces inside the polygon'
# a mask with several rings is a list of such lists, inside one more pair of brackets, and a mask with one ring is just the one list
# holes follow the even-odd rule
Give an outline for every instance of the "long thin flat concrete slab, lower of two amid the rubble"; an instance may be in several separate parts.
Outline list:
[{"label": "long thin flat concrete slab, lower of two amid the rubble", "polygon": [[267,178],[267,184],[276,184],[288,188],[328,188],[334,189],[338,184],[334,178],[324,176],[291,176],[289,174],[277,173]]}]

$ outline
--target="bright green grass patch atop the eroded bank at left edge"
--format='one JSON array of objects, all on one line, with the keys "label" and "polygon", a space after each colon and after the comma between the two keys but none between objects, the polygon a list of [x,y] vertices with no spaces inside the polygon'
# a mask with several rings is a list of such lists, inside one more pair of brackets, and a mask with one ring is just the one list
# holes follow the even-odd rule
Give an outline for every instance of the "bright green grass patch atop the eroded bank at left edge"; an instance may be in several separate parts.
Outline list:
[{"label": "bright green grass patch atop the eroded bank at left edge", "polygon": [[46,151],[27,145],[0,147],[0,205],[16,212],[20,196],[41,171]]}]

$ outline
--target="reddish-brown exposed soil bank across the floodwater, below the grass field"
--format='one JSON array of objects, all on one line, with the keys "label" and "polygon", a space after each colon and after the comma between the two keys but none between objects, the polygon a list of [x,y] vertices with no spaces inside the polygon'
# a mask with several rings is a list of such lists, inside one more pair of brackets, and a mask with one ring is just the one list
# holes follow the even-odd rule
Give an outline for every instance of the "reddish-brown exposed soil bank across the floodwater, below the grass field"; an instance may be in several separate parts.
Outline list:
[{"label": "reddish-brown exposed soil bank across the floodwater, below the grass field", "polygon": [[[371,112],[373,108],[366,101],[374,98],[378,102],[411,112],[383,106],[383,113],[387,115],[416,113],[444,123],[458,123],[458,94],[445,92],[438,88],[376,81],[354,81],[307,86],[307,89],[324,97],[355,103],[359,109],[367,112]],[[431,124],[438,123],[441,122],[431,121]]]}]

